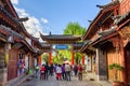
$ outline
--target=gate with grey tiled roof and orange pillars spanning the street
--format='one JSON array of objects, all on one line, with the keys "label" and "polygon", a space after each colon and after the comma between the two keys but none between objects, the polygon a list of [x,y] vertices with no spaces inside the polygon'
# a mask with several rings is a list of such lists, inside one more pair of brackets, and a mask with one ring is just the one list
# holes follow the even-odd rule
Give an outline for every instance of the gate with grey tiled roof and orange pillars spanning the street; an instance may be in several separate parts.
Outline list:
[{"label": "gate with grey tiled roof and orange pillars spanning the street", "polygon": [[[49,34],[49,35],[43,35],[40,34],[41,39],[46,41],[43,44],[43,52],[50,53],[50,61],[52,62],[52,45],[53,44],[70,44],[73,46],[72,49],[72,64],[74,64],[74,54],[75,52],[78,52],[83,43],[79,43],[81,41],[81,37],[76,37],[72,34]],[[82,63],[84,64],[84,55],[82,54]]]}]

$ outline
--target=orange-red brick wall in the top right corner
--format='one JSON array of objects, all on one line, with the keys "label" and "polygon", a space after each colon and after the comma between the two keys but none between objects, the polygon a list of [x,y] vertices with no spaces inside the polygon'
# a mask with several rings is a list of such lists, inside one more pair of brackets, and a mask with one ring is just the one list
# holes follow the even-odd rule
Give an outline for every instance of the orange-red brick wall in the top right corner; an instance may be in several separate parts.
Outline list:
[{"label": "orange-red brick wall in the top right corner", "polygon": [[130,0],[121,0],[120,2],[120,14],[125,14],[130,11]]}]

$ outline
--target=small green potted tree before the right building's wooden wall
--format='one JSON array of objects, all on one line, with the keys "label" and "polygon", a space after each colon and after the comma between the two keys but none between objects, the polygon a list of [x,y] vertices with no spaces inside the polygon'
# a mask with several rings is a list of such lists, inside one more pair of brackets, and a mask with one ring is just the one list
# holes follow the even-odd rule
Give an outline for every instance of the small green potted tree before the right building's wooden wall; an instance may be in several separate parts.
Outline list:
[{"label": "small green potted tree before the right building's wooden wall", "polygon": [[108,68],[110,70],[114,70],[114,82],[113,82],[113,86],[121,86],[121,82],[118,81],[118,71],[121,71],[123,69],[123,67],[121,67],[118,63],[112,63],[108,66]]}]

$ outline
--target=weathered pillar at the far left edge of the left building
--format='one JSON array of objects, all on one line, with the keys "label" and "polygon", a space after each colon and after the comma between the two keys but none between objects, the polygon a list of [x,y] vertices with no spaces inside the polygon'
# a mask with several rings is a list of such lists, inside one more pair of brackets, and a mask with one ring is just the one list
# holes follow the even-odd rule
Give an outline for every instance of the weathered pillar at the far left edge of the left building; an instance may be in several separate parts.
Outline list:
[{"label": "weathered pillar at the far left edge of the left building", "polygon": [[6,86],[8,84],[8,66],[9,66],[9,52],[11,49],[11,43],[1,44],[0,47],[0,86]]}]

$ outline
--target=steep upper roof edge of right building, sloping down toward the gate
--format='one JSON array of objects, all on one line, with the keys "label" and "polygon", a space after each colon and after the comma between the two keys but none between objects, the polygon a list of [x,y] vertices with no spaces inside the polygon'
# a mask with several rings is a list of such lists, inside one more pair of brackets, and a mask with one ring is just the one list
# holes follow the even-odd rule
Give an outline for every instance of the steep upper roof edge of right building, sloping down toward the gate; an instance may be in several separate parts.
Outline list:
[{"label": "steep upper roof edge of right building, sloping down toward the gate", "polygon": [[[102,22],[101,18],[106,18],[106,15],[109,16],[113,13],[113,12],[110,12],[112,8],[116,6],[118,4],[119,4],[119,1],[115,0],[115,1],[109,2],[108,4],[105,4],[105,5],[96,5],[96,6],[99,6],[101,9],[101,11],[98,13],[95,18],[91,22],[86,34],[83,35],[83,40],[90,39],[89,34],[91,34],[90,32],[91,32],[93,26],[101,25],[101,22]],[[92,33],[93,33],[93,31],[92,31]]]}]

